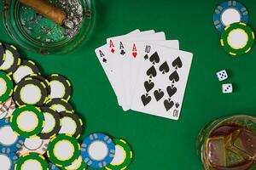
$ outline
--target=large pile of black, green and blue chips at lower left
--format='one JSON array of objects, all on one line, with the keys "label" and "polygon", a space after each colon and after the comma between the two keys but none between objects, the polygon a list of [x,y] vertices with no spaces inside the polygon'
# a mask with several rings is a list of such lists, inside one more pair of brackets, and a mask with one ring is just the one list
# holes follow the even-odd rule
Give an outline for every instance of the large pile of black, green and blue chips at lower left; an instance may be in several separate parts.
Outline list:
[{"label": "large pile of black, green and blue chips at lower left", "polygon": [[1,170],[86,167],[126,169],[132,160],[125,139],[93,133],[79,143],[83,122],[69,103],[72,84],[58,74],[45,78],[13,45],[0,43]]}]

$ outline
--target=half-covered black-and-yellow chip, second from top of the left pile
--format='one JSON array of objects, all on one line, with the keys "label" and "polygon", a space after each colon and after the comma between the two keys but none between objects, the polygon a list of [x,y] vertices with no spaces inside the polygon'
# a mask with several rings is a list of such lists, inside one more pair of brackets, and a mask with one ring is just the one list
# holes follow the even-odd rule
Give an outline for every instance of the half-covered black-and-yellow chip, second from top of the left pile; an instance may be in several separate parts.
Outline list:
[{"label": "half-covered black-and-yellow chip, second from top of the left pile", "polygon": [[21,64],[13,74],[13,79],[15,83],[18,83],[20,80],[22,80],[22,78],[33,73],[39,73],[38,66],[32,60],[21,60]]}]

